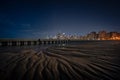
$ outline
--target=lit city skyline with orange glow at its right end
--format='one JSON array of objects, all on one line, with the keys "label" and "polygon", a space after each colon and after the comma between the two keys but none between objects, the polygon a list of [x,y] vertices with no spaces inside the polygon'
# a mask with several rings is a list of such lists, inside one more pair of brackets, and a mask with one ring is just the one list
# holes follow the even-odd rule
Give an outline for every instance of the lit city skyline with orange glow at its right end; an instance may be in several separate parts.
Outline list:
[{"label": "lit city skyline with orange glow at its right end", "polygon": [[119,32],[90,32],[87,35],[66,35],[65,33],[57,33],[52,39],[70,39],[70,40],[120,40]]}]

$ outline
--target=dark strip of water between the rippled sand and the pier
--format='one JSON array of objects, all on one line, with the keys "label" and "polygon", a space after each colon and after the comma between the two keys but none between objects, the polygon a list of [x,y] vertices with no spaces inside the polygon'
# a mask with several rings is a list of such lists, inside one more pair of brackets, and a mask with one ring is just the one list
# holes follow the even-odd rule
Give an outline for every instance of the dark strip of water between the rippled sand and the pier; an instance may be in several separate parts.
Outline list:
[{"label": "dark strip of water between the rippled sand and the pier", "polygon": [[[104,44],[103,44],[104,42]],[[95,44],[94,44],[95,43]],[[61,46],[65,47],[68,45],[84,45],[84,44],[92,44],[92,45],[103,45],[106,46],[107,44],[120,44],[120,41],[73,41],[69,44],[45,44],[45,45],[28,45],[28,46],[0,46],[0,53],[2,52],[16,52],[16,51],[21,51],[25,49],[33,49],[35,51],[40,51],[42,49],[46,49],[51,46]]]}]

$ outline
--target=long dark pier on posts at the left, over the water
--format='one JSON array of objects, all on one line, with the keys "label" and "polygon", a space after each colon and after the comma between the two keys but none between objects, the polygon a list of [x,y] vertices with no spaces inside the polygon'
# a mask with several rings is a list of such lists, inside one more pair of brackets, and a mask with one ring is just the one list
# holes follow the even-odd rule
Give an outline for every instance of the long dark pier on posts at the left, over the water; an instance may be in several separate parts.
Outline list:
[{"label": "long dark pier on posts at the left, over the water", "polygon": [[59,39],[38,39],[38,40],[18,40],[18,39],[0,39],[0,46],[24,46],[24,45],[46,45],[46,44],[66,44],[68,40]]}]

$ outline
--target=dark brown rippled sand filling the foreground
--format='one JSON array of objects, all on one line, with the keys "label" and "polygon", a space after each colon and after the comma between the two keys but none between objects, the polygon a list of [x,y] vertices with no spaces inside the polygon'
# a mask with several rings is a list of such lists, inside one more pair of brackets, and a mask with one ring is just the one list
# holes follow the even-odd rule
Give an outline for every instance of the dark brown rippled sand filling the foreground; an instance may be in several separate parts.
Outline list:
[{"label": "dark brown rippled sand filling the foreground", "polygon": [[120,80],[120,42],[0,53],[0,80]]}]

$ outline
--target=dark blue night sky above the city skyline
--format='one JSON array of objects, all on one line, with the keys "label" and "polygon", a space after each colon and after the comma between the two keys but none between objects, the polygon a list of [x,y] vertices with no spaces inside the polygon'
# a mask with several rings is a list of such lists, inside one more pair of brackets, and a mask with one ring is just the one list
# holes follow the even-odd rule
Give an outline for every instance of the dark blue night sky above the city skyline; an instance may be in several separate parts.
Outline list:
[{"label": "dark blue night sky above the city skyline", "polygon": [[0,0],[0,38],[120,32],[119,0]]}]

